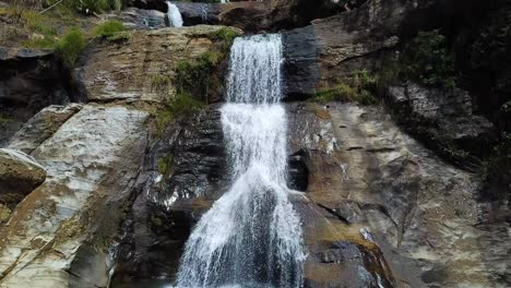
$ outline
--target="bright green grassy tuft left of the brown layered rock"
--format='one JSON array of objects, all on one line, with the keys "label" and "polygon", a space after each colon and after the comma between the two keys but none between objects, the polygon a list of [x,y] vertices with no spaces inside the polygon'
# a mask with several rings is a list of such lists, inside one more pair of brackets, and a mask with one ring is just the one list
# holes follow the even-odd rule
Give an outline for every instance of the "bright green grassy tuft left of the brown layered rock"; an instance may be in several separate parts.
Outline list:
[{"label": "bright green grassy tuft left of the brown layered rock", "polygon": [[71,28],[56,45],[56,52],[68,67],[73,67],[85,48],[85,36],[79,28]]}]

